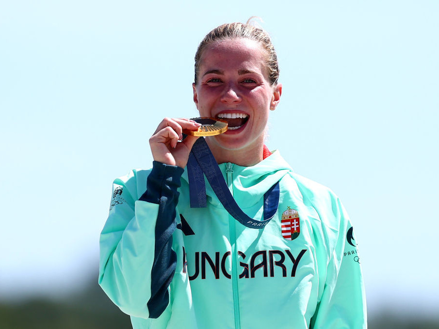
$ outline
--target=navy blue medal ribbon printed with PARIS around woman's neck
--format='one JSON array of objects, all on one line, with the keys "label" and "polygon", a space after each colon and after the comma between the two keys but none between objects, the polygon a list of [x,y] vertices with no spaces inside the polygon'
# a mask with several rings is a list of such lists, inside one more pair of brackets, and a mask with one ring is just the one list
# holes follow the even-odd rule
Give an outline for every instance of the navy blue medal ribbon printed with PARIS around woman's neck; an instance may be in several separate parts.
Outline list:
[{"label": "navy blue medal ribbon printed with PARIS around woman's neck", "polygon": [[279,204],[279,182],[276,182],[264,194],[263,220],[256,220],[247,216],[230,193],[223,174],[203,137],[195,141],[189,154],[187,169],[191,208],[204,208],[207,206],[206,185],[204,183],[204,175],[206,175],[218,200],[228,213],[244,226],[260,229],[275,216]]}]

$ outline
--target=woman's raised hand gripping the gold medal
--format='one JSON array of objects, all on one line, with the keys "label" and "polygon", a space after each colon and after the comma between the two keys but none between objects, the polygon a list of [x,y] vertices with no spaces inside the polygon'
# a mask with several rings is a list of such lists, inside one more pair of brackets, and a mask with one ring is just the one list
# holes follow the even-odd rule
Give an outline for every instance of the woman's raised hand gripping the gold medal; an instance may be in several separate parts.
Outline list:
[{"label": "woman's raised hand gripping the gold medal", "polygon": [[188,135],[179,142],[183,138],[183,129],[197,130],[200,125],[190,119],[164,118],[149,139],[154,160],[184,168],[198,137]]}]

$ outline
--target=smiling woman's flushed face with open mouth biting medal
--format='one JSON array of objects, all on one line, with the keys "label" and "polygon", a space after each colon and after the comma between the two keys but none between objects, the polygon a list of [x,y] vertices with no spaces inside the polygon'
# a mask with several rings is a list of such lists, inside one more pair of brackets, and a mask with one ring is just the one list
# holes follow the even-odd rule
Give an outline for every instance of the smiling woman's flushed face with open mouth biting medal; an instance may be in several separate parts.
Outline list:
[{"label": "smiling woman's flushed face with open mouth biting medal", "polygon": [[204,51],[194,102],[200,116],[228,121],[224,134],[210,142],[227,150],[244,150],[262,144],[270,110],[275,110],[282,86],[268,81],[266,55],[249,39],[214,43]]}]

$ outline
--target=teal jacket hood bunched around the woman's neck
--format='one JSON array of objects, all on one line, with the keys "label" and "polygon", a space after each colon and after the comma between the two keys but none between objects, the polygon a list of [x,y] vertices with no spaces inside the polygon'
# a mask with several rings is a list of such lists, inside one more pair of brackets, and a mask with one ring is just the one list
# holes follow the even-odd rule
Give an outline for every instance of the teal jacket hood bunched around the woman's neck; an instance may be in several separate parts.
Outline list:
[{"label": "teal jacket hood bunched around the woman's neck", "polygon": [[[288,172],[293,169],[280,156],[279,151],[274,151],[273,154],[254,166],[243,167],[233,163],[219,164],[220,170],[223,173],[224,179],[228,186],[230,182],[227,181],[226,167],[231,167],[233,196],[241,209],[251,207],[258,203],[263,197],[263,194],[278,182]],[[182,178],[189,184],[187,168],[185,168]],[[206,183],[206,194],[208,203],[222,207],[211,185],[204,177]]]}]

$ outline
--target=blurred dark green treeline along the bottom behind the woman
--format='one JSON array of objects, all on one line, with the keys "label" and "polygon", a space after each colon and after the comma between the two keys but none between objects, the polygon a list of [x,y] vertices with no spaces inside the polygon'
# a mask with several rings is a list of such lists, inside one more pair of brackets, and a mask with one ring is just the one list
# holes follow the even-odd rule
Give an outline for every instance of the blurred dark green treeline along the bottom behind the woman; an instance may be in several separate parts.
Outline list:
[{"label": "blurred dark green treeline along the bottom behind the woman", "polygon": [[[29,298],[0,302],[1,329],[131,329],[130,317],[122,313],[98,286],[98,275],[64,298]],[[439,329],[439,319],[395,310],[389,305],[368,314],[370,329]],[[280,329],[280,328],[279,328]]]}]

